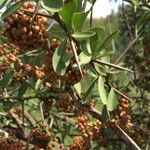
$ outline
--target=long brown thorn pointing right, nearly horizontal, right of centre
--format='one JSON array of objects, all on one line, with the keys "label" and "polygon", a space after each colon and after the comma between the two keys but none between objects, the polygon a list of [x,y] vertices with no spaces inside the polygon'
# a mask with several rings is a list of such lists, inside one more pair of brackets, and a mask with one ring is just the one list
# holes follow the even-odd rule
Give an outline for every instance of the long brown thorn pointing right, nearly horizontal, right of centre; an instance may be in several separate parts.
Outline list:
[{"label": "long brown thorn pointing right, nearly horizontal, right of centre", "polygon": [[113,68],[116,68],[116,69],[125,70],[125,71],[129,71],[131,73],[134,73],[133,70],[130,70],[130,69],[127,69],[127,68],[124,68],[124,67],[121,67],[121,66],[109,63],[109,62],[104,62],[102,60],[96,59],[96,60],[92,60],[92,61],[95,62],[95,63],[98,63],[98,64],[103,64],[103,65],[107,65],[107,66],[110,66],[110,67],[113,67]]}]

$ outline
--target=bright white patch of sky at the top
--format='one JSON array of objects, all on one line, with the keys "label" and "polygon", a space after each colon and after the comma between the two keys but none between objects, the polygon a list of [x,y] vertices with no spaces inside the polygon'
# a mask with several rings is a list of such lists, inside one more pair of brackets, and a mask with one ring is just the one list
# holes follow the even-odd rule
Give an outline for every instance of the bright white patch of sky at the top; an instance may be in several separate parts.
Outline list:
[{"label": "bright white patch of sky at the top", "polygon": [[[106,17],[112,11],[117,12],[118,6],[121,4],[121,0],[115,2],[115,0],[97,0],[93,8],[94,18]],[[90,8],[90,4],[87,5],[87,10]]]}]

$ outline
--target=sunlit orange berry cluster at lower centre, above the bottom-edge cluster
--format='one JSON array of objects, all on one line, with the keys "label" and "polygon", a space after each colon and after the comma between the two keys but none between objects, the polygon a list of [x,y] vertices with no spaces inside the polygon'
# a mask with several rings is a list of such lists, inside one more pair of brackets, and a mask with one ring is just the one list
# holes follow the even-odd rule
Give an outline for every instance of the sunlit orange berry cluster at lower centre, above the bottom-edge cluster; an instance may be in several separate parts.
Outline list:
[{"label": "sunlit orange berry cluster at lower centre, above the bottom-edge cluster", "polygon": [[88,121],[85,115],[77,117],[77,128],[84,138],[96,139],[101,133],[102,122],[99,120]]}]

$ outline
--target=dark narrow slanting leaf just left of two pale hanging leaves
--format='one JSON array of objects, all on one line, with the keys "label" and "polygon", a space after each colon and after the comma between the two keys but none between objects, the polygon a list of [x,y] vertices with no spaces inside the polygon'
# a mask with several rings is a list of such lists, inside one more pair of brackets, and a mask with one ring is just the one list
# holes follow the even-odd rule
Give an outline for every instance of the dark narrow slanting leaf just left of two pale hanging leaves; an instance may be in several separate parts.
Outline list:
[{"label": "dark narrow slanting leaf just left of two pale hanging leaves", "polygon": [[85,92],[85,94],[84,94],[84,96],[83,96],[83,98],[82,98],[82,103],[83,103],[83,104],[89,102],[88,97],[89,97],[89,95],[90,95],[92,89],[94,88],[95,83],[97,82],[97,79],[98,79],[98,78],[95,78],[95,79],[91,82],[90,86],[88,87],[87,91]]}]

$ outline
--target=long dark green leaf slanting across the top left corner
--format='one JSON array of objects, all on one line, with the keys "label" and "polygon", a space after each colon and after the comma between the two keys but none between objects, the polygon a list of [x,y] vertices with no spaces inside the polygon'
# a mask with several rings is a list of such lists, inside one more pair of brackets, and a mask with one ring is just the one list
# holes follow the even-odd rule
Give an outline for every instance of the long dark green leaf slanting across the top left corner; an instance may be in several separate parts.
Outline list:
[{"label": "long dark green leaf slanting across the top left corner", "polygon": [[19,9],[25,0],[19,1],[12,6],[10,6],[6,11],[2,14],[1,19],[4,20],[8,16],[10,16],[12,13],[14,13],[17,9]]}]

